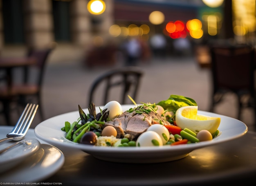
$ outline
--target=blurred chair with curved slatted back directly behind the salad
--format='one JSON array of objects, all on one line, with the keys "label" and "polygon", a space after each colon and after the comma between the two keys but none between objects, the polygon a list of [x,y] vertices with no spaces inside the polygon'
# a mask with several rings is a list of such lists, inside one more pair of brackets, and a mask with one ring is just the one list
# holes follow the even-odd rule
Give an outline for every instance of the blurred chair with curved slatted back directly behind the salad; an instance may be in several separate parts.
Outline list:
[{"label": "blurred chair with curved slatted back directly behind the salad", "polygon": [[[128,95],[136,101],[142,76],[143,72],[139,67],[123,67],[106,72],[92,83],[88,105],[91,102],[95,105],[105,105],[112,100],[128,104]],[[132,104],[131,101],[129,103]]]}]

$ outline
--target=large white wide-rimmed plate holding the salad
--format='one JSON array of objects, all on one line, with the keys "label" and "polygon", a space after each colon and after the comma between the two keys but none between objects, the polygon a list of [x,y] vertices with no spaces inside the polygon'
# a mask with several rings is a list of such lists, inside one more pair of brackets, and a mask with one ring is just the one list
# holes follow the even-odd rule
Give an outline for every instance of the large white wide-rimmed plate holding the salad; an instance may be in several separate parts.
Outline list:
[{"label": "large white wide-rimmed plate holding the salad", "polygon": [[[123,111],[134,108],[134,105],[122,105]],[[103,107],[101,107],[102,109]],[[83,109],[85,113],[88,110]],[[99,112],[99,107],[96,107]],[[126,163],[157,163],[181,159],[189,155],[189,152],[211,145],[216,145],[225,141],[236,139],[246,134],[248,128],[245,123],[220,114],[211,112],[198,111],[212,117],[220,117],[221,122],[219,130],[221,134],[211,141],[202,141],[200,143],[190,143],[179,146],[156,146],[156,147],[100,147],[74,143],[65,139],[65,132],[61,128],[65,125],[65,121],[73,123],[79,118],[79,112],[69,112],[52,117],[38,124],[35,128],[35,134],[38,138],[60,148],[76,148],[93,155],[94,157],[106,161],[126,162]],[[71,149],[70,149],[71,150]]]}]

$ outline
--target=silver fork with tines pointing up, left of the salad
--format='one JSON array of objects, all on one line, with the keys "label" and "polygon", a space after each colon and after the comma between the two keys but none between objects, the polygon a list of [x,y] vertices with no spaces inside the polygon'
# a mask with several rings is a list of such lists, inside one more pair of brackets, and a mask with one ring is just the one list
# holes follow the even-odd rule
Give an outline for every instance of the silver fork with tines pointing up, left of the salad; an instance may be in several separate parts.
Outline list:
[{"label": "silver fork with tines pointing up, left of the salad", "polygon": [[20,141],[23,139],[36,115],[37,108],[38,105],[27,103],[13,130],[6,135],[7,138],[1,139],[0,143],[11,139],[14,141]]}]

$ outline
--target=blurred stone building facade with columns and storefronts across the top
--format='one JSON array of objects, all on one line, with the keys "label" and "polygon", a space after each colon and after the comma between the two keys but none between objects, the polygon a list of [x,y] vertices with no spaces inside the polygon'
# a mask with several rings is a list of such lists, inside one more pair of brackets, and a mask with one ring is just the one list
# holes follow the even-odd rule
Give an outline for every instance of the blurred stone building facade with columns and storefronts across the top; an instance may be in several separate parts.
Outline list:
[{"label": "blurred stone building facade with columns and storefronts across the top", "polygon": [[[248,22],[249,17],[242,18],[242,14],[238,13],[240,27],[236,31],[238,35],[247,32],[246,37],[255,38],[255,0],[226,0],[231,1],[236,1],[233,4],[240,8],[240,12],[248,10],[246,7],[242,9],[239,6],[241,4],[254,7],[254,12],[250,13],[254,13],[254,18],[249,21],[254,22],[254,25],[242,27],[242,20]],[[198,18],[203,23],[202,30],[205,34],[200,40],[195,40],[196,42],[202,42],[209,37],[220,38],[219,32],[225,27],[222,26],[223,6],[212,9],[202,0],[105,0],[106,10],[101,15],[89,13],[88,2],[89,0],[0,0],[1,55],[23,55],[27,47],[45,47],[56,42],[58,45],[52,61],[79,60],[92,45],[121,38],[111,36],[109,30],[112,25],[122,28],[129,25],[148,25],[150,33],[145,34],[145,38],[149,39],[155,34],[162,34],[169,21],[186,22]],[[149,14],[156,10],[165,16],[164,22],[159,25],[152,24],[148,19]],[[244,11],[243,15],[246,15]],[[210,25],[212,20],[213,25]],[[212,32],[209,33],[209,30]],[[240,40],[243,39],[240,37]],[[10,47],[17,50],[8,52]]]}]

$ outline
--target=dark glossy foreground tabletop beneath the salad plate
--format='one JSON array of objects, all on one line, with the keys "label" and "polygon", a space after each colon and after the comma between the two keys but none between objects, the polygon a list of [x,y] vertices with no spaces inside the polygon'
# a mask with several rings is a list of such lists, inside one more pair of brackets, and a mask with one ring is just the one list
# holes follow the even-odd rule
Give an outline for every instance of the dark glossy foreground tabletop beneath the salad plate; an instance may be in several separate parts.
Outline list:
[{"label": "dark glossy foreground tabletop beneath the salad plate", "polygon": [[103,161],[83,151],[65,155],[64,166],[45,182],[73,185],[181,185],[238,183],[256,174],[256,133],[192,151],[180,160],[156,164]]}]

